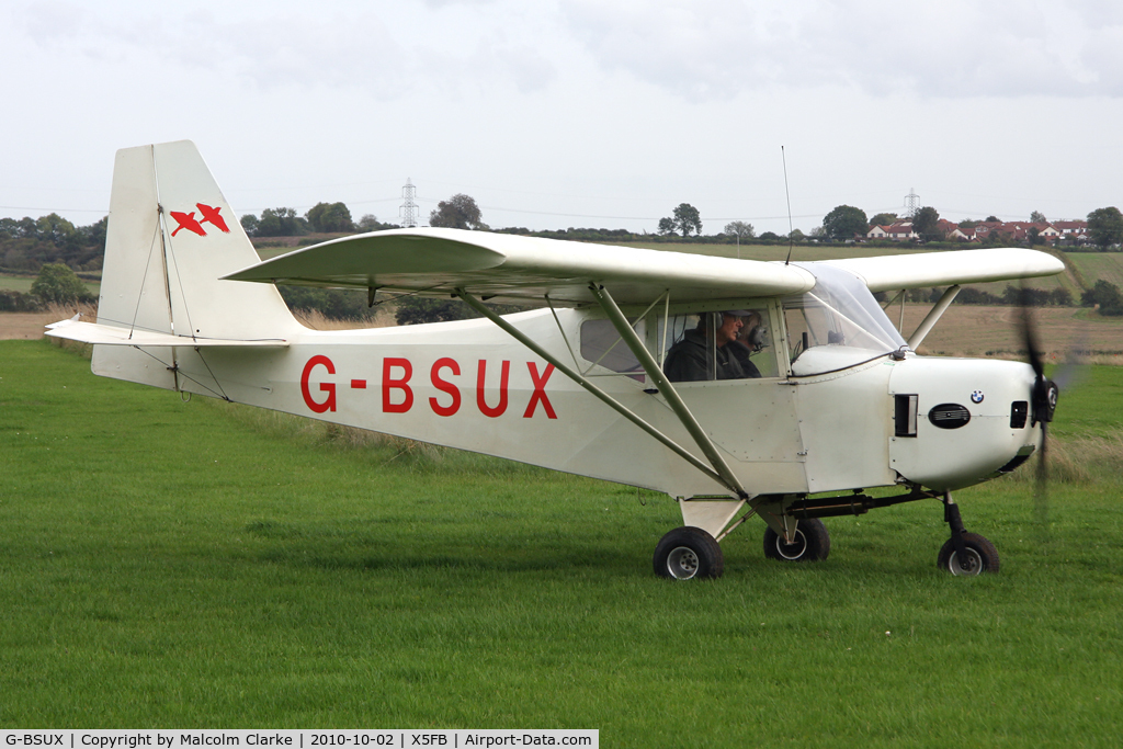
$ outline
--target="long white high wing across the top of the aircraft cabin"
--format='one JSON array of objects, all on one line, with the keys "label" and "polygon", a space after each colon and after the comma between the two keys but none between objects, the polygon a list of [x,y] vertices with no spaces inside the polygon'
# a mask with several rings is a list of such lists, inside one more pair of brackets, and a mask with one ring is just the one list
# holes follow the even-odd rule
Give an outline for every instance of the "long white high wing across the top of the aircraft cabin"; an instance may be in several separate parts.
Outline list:
[{"label": "long white high wing across the top of the aircraft cabin", "polygon": [[[1056,257],[1017,248],[825,261],[870,291],[1053,275]],[[806,265],[806,264],[800,264]],[[797,294],[814,286],[797,265],[596,245],[463,229],[392,229],[334,239],[237,273],[231,281],[376,289],[437,296],[456,289],[497,302],[595,302],[590,282],[610,283],[621,304],[669,291],[677,301]]]}]

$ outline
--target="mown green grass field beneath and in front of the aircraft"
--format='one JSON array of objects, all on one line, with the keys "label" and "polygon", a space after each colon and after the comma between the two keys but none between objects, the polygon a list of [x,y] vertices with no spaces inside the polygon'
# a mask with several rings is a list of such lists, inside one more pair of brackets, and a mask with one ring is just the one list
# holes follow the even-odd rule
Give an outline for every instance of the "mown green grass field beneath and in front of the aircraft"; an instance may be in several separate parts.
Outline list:
[{"label": "mown green grass field beneath and in front of the aircraft", "polygon": [[[1120,440],[1123,369],[1058,433]],[[0,727],[595,728],[622,747],[1113,747],[1120,450],[958,493],[1002,572],[935,568],[935,502],[831,557],[655,577],[674,504],[94,377],[0,342]],[[1074,447],[1075,446],[1075,447]],[[1016,476],[1016,474],[1015,474]]]}]

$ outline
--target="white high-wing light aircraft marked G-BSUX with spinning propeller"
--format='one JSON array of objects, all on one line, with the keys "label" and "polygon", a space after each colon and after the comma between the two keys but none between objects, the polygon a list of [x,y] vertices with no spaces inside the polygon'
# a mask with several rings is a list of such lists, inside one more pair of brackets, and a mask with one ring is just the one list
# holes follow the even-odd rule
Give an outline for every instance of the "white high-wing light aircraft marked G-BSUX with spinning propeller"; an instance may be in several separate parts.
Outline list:
[{"label": "white high-wing light aircraft marked G-BSUX with spinning propeller", "polygon": [[[769,557],[815,560],[820,518],[925,499],[950,527],[940,566],[971,575],[998,555],[951,492],[1041,449],[1057,387],[1032,351],[915,349],[961,284],[1062,270],[1013,248],[785,264],[433,228],[262,262],[177,141],[117,153],[98,321],[48,335],[93,344],[99,375],[665,492],[683,513],[656,547],[666,577],[721,575],[719,541],[754,514]],[[482,318],[309,330],[275,284]],[[948,291],[905,338],[885,310],[921,286]]]}]

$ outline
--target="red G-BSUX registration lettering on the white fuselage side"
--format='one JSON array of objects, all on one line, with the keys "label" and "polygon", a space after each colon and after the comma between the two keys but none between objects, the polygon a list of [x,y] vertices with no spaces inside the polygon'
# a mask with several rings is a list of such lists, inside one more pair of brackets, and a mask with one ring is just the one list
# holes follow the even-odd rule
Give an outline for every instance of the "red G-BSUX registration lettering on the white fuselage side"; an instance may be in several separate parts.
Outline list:
[{"label": "red G-BSUX registration lettering on the white fuselage side", "polygon": [[[308,359],[300,375],[300,392],[304,396],[304,404],[313,413],[335,411],[337,405],[336,383],[321,382],[317,385],[319,392],[326,394],[326,396],[322,396],[322,400],[317,400],[313,394],[312,378],[317,367],[323,367],[329,375],[336,374],[335,363],[327,356],[318,354]],[[530,374],[533,391],[530,394],[530,401],[527,403],[526,410],[522,412],[523,419],[533,418],[539,404],[541,404],[541,410],[546,413],[547,419],[558,418],[557,412],[554,410],[554,404],[550,403],[550,399],[546,394],[546,384],[549,382],[550,375],[554,374],[554,369],[553,364],[547,364],[546,368],[539,373],[537,363],[527,362],[527,371]],[[459,376],[460,364],[456,359],[446,356],[433,362],[432,367],[429,369],[429,382],[435,390],[444,393],[444,395],[435,395],[428,399],[429,409],[437,415],[451,417],[459,413],[460,407],[464,404],[464,393],[455,382],[455,378]],[[492,376],[494,377],[494,375]],[[383,413],[408,413],[413,408],[413,389],[410,386],[412,377],[413,363],[410,359],[387,356],[382,360]],[[478,359],[476,366],[476,408],[480,410],[480,413],[491,419],[506,413],[508,405],[510,404],[510,383],[511,362],[504,359],[500,363],[499,401],[495,405],[489,404],[489,393],[486,392],[487,360]],[[350,391],[364,391],[367,387],[367,381],[362,378],[343,380],[344,387],[348,384],[350,385]],[[495,387],[493,386],[491,398],[494,398],[494,390]],[[357,395],[355,393],[353,396]]]}]

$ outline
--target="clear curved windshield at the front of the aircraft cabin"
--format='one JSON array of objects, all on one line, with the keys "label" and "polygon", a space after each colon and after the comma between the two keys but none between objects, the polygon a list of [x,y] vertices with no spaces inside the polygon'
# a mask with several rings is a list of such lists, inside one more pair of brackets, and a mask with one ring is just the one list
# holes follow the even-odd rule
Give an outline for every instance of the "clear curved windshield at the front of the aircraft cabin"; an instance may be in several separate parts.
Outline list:
[{"label": "clear curved windshield at the front of the aircraft cabin", "polygon": [[814,289],[784,300],[793,374],[841,369],[907,346],[858,276],[823,263],[793,265],[815,276]]}]

